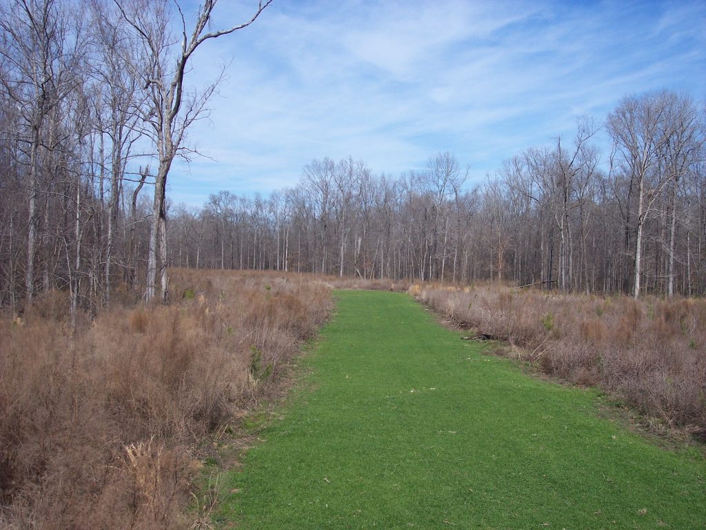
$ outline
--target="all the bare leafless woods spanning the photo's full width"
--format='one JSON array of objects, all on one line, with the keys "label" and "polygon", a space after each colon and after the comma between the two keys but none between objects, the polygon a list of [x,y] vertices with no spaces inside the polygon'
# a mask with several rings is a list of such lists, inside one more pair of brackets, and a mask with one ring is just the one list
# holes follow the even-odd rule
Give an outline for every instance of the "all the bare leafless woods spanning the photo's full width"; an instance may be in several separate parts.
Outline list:
[{"label": "all the bare leafless woods spanning the photo's full width", "polygon": [[610,153],[585,121],[474,186],[451,153],[398,177],[323,158],[268,197],[170,206],[220,81],[189,89],[189,61],[269,4],[224,30],[215,0],[193,17],[168,0],[0,5],[0,306],[66,290],[75,319],[117,289],[164,299],[169,266],[705,293],[703,106],[669,91],[621,101]]}]

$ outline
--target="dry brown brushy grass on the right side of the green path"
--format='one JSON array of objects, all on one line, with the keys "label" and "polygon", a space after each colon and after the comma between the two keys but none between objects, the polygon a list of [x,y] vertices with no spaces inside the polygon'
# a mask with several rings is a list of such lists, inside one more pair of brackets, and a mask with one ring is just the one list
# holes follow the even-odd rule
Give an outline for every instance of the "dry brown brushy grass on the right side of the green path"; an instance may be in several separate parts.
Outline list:
[{"label": "dry brown brushy grass on the right side of the green path", "polygon": [[706,300],[633,300],[413,285],[456,324],[509,341],[544,372],[599,384],[663,425],[706,436]]}]

